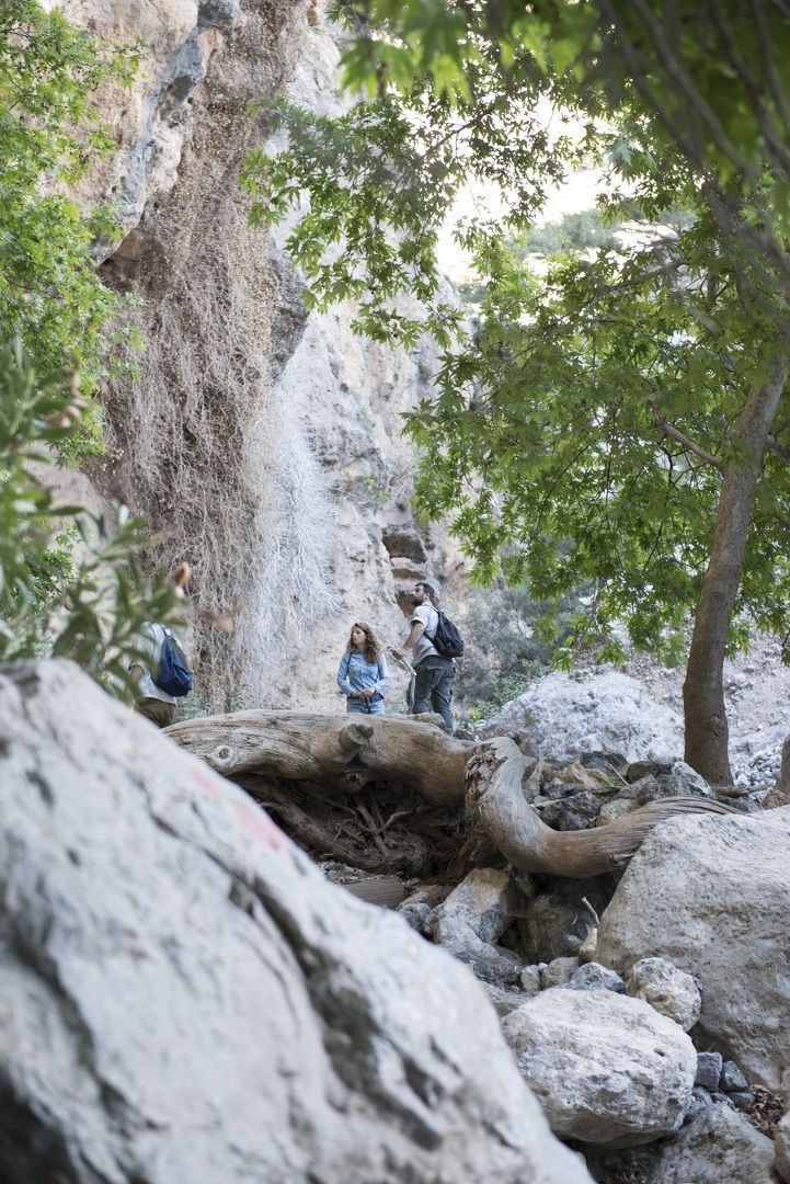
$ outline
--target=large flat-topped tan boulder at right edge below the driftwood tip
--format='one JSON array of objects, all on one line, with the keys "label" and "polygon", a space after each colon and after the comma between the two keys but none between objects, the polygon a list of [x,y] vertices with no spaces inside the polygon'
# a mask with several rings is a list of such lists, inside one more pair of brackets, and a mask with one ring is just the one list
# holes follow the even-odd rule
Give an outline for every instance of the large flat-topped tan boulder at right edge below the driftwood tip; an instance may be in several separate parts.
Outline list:
[{"label": "large flat-topped tan boulder at right edge below the driftwood tip", "polygon": [[655,955],[692,974],[708,1042],[769,1089],[790,1064],[788,867],[788,807],[672,818],[630,861],[596,948],[623,977]]}]

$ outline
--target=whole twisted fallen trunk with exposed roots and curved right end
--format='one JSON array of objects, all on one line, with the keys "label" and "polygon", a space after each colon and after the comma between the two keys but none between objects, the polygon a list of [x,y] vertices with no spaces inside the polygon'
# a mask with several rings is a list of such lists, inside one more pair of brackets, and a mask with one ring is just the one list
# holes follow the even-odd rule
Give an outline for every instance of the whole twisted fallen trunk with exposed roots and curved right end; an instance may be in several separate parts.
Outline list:
[{"label": "whole twisted fallen trunk with exposed roots and curved right end", "polygon": [[167,734],[248,790],[304,845],[368,870],[415,874],[432,852],[452,860],[462,845],[452,807],[464,803],[479,852],[493,848],[524,871],[570,879],[622,868],[674,815],[732,812],[704,798],[665,798],[606,826],[556,831],[524,796],[531,765],[512,740],[454,740],[433,716],[237,712],[184,720]]}]

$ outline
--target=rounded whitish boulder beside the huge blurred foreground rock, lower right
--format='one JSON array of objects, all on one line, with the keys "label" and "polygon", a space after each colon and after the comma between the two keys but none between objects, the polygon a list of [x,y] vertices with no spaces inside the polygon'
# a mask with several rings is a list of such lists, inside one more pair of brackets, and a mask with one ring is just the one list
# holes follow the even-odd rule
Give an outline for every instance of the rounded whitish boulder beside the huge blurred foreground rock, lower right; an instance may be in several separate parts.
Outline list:
[{"label": "rounded whitish boulder beside the huge blurred foreground rock, lower right", "polygon": [[503,1031],[557,1134],[626,1147],[682,1122],[694,1045],[640,999],[551,987],[511,1012]]}]

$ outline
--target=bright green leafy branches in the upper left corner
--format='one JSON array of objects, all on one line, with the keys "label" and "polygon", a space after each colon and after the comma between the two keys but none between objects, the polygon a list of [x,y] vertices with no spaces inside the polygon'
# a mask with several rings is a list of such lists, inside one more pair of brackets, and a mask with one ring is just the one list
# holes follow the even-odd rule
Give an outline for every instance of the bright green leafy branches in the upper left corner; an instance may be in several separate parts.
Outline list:
[{"label": "bright green leafy branches in the upper left corner", "polygon": [[[111,213],[83,215],[65,193],[114,146],[91,107],[108,78],[127,85],[137,52],[95,40],[35,0],[0,12],[0,340],[21,339],[40,374],[79,372],[82,393],[105,374],[103,333],[117,298],[96,275],[92,245]],[[98,448],[86,407],[79,439]]]}]

